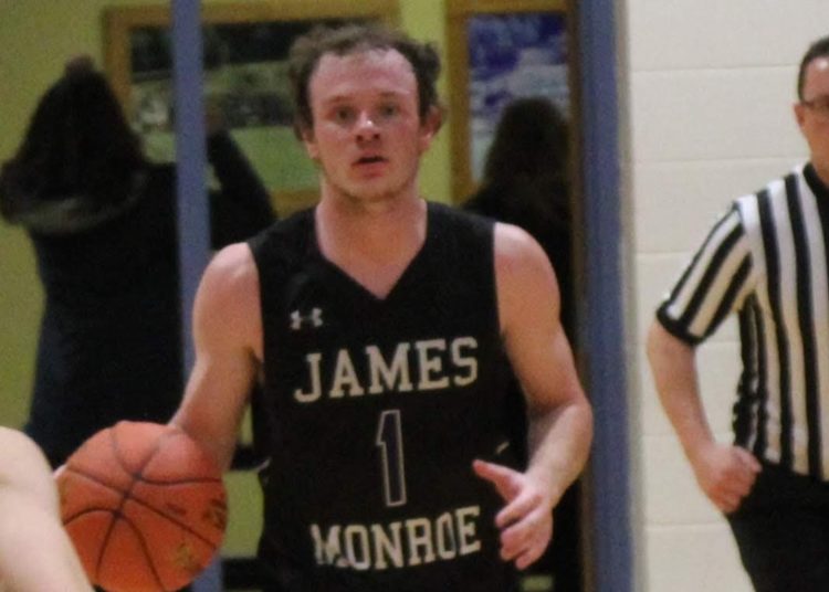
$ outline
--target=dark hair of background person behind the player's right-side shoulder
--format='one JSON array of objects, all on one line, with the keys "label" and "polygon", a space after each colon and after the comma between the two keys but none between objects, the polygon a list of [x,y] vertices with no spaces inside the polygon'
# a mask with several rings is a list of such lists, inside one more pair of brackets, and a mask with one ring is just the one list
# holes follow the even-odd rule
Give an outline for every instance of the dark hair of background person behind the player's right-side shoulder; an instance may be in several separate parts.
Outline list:
[{"label": "dark hair of background person behind the player's right-side shoulder", "polygon": [[[518,98],[501,115],[482,189],[508,222],[538,233],[569,222],[567,119],[547,98]],[[536,234],[536,232],[533,232]]]}]

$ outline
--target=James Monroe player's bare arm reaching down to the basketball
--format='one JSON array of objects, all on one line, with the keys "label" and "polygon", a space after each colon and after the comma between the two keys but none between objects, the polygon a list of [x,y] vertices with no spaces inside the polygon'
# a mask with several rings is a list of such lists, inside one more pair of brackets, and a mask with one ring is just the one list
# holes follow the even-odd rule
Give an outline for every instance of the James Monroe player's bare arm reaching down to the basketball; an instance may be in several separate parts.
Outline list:
[{"label": "James Monroe player's bare arm reaching down to the basketball", "polygon": [[262,348],[259,274],[246,244],[223,249],[204,271],[193,307],[193,343],[196,363],[172,423],[227,469]]}]

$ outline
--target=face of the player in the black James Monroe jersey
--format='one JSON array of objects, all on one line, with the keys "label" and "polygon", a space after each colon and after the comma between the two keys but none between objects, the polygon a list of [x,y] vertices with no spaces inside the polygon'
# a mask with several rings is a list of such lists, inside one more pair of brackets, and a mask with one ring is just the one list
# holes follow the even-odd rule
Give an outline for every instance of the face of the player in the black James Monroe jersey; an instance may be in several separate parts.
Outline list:
[{"label": "face of the player in the black James Monroe jersey", "polygon": [[321,165],[324,199],[417,197],[420,155],[438,117],[421,121],[417,80],[406,57],[395,50],[325,54],[308,91],[313,126],[303,139]]}]

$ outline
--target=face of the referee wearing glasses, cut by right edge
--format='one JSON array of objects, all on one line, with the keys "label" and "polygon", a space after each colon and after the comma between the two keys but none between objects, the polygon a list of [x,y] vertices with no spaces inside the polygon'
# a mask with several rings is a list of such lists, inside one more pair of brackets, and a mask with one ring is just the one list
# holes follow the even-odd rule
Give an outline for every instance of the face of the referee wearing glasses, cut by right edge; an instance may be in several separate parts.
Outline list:
[{"label": "face of the referee wearing glasses, cut by right edge", "polygon": [[829,57],[812,60],[806,67],[804,99],[795,116],[811,151],[811,161],[829,183]]}]

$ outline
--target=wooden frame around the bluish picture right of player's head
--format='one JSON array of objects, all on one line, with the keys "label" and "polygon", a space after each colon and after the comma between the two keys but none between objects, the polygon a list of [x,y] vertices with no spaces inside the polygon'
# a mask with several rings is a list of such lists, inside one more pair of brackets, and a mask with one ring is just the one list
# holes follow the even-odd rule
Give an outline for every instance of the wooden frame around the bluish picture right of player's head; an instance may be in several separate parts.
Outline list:
[{"label": "wooden frame around the bluish picture right of player's head", "polygon": [[[460,203],[472,194],[479,184],[478,175],[475,173],[475,162],[480,169],[482,159],[482,147],[476,146],[475,138],[470,128],[473,125],[473,114],[471,103],[473,89],[471,84],[472,72],[470,68],[470,36],[469,27],[475,19],[524,19],[534,15],[542,15],[544,19],[560,19],[562,34],[565,39],[565,61],[562,64],[567,68],[565,75],[566,86],[568,88],[566,105],[560,105],[563,97],[550,96],[556,103],[559,103],[570,113],[570,104],[575,103],[573,84],[575,64],[571,59],[566,56],[575,55],[573,39],[573,20],[574,14],[568,10],[568,0],[447,0],[448,15],[448,74],[449,86],[452,92],[449,101],[449,121],[451,123],[451,147],[452,147],[452,198]],[[515,94],[514,96],[524,96]],[[492,119],[495,114],[490,115]],[[576,117],[571,117],[576,121]],[[490,121],[490,126],[492,121]],[[575,130],[574,130],[575,131]],[[577,134],[573,134],[573,137]],[[473,162],[475,160],[475,162]]]}]

